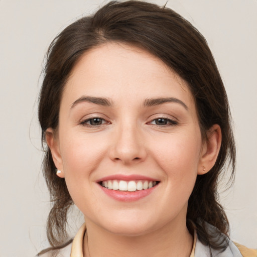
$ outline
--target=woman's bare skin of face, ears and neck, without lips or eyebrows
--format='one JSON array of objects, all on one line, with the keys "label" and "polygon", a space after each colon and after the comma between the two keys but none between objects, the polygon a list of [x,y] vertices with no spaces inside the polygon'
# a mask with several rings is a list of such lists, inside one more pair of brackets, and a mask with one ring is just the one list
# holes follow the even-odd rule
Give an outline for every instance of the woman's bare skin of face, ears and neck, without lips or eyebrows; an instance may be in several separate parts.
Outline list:
[{"label": "woman's bare skin of face, ears and neck, without lips or eyebrows", "polygon": [[[105,97],[112,106],[77,101],[84,96]],[[144,106],[157,97],[183,103]],[[90,125],[94,117],[102,123]],[[203,142],[188,85],[157,57],[116,43],[85,53],[65,86],[58,131],[47,130],[62,171],[58,176],[85,217],[84,255],[189,256],[188,199],[197,174],[214,165],[221,142],[218,125],[207,134]],[[113,174],[139,174],[160,183],[145,198],[121,202],[96,183]]]}]

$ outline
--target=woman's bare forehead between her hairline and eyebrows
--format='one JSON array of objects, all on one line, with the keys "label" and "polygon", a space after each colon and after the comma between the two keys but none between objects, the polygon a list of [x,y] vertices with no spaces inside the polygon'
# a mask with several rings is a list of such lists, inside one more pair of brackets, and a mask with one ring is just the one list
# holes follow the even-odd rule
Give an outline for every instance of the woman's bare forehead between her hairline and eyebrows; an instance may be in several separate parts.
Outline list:
[{"label": "woman's bare forehead between her hairline and eyebrows", "polygon": [[74,66],[64,97],[178,97],[192,101],[187,83],[162,60],[131,45],[107,43],[89,50]]}]

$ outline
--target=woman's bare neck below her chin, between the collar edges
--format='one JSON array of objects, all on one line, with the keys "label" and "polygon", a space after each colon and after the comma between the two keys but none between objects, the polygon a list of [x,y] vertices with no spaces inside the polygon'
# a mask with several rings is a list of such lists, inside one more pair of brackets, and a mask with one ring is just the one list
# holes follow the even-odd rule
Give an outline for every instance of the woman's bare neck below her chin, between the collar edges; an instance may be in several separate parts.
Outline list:
[{"label": "woman's bare neck below her chin, between the collar edges", "polygon": [[189,257],[193,237],[186,227],[186,220],[174,220],[153,232],[124,236],[113,234],[87,221],[84,237],[84,257]]}]

